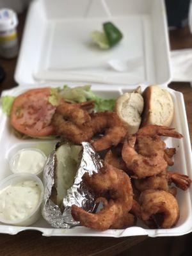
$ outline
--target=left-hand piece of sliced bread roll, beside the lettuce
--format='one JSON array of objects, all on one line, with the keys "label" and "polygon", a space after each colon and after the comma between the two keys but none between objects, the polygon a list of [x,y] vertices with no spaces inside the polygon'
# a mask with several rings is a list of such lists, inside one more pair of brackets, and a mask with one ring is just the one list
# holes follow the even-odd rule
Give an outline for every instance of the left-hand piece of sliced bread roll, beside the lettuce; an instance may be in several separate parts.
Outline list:
[{"label": "left-hand piece of sliced bread roll, beside the lettuce", "polygon": [[135,90],[132,93],[124,93],[116,100],[115,111],[130,134],[137,132],[141,124],[144,102],[139,92],[140,90]]}]

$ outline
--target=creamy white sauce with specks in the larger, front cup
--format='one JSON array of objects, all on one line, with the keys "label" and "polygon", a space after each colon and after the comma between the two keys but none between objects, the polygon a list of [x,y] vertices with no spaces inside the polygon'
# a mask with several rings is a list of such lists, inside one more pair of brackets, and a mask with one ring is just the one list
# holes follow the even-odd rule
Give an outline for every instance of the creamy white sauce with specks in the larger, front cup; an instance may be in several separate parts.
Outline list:
[{"label": "creamy white sauce with specks in the larger, front cup", "polygon": [[24,220],[40,202],[41,189],[35,180],[25,180],[0,191],[0,218],[7,221]]}]

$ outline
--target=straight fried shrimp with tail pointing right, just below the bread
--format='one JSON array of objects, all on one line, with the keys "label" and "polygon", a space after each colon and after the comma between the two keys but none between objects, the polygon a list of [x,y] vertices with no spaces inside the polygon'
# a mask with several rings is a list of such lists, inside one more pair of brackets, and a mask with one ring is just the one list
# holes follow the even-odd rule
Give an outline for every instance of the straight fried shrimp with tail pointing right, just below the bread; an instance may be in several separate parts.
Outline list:
[{"label": "straight fried shrimp with tail pointing right, just below the bread", "polygon": [[173,137],[173,138],[183,138],[182,134],[175,131],[174,128],[170,128],[163,125],[146,125],[142,127],[138,132],[137,135],[144,135],[144,136],[166,136],[166,137]]}]

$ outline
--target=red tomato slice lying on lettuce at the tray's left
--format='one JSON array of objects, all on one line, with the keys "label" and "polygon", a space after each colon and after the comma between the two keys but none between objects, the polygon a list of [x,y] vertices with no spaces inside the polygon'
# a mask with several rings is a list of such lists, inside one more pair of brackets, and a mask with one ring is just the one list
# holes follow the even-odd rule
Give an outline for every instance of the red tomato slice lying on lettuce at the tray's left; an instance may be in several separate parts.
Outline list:
[{"label": "red tomato slice lying on lettuce at the tray's left", "polygon": [[56,106],[49,103],[51,88],[38,88],[22,93],[15,98],[11,111],[11,124],[28,136],[54,134],[51,125]]}]

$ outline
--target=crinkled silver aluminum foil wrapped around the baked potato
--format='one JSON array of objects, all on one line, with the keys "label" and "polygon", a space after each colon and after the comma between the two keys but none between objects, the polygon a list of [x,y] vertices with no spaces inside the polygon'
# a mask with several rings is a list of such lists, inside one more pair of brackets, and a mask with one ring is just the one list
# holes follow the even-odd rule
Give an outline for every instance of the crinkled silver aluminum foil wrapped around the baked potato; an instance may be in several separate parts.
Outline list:
[{"label": "crinkled silver aluminum foil wrapped around the baked potato", "polygon": [[44,168],[44,199],[42,204],[42,216],[55,228],[71,228],[79,225],[79,222],[74,221],[70,213],[71,205],[75,204],[82,207],[86,211],[92,212],[95,206],[92,193],[82,184],[82,176],[85,172],[90,175],[93,172],[98,172],[102,167],[102,161],[90,143],[83,142],[83,156],[81,163],[76,173],[73,186],[68,189],[67,196],[63,198],[64,211],[54,204],[50,197],[52,186],[54,185],[54,161],[56,150],[53,150],[47,159]]}]

